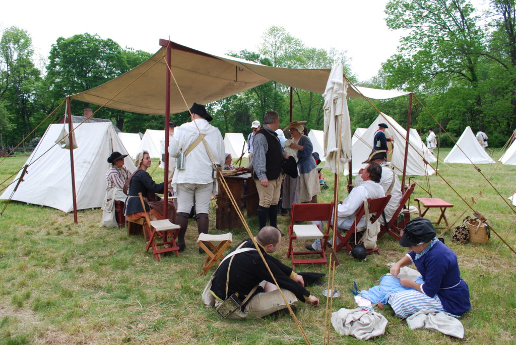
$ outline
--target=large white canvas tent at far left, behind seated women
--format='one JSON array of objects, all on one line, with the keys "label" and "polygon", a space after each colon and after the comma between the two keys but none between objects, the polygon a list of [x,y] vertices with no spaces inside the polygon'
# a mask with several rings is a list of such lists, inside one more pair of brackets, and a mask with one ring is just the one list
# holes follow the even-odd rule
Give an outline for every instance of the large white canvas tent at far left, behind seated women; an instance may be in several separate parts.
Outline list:
[{"label": "large white canvas tent at far left, behind seated women", "polygon": [[[18,190],[11,197],[16,185],[13,183],[0,199],[49,206],[64,212],[73,210],[70,151],[54,145],[62,128],[62,124],[51,124],[46,129],[27,159],[26,164],[34,163],[27,169]],[[107,157],[113,151],[127,152],[110,122],[83,123],[74,133],[78,146],[73,151],[77,209],[101,207],[106,194],[106,171],[110,166]],[[136,170],[130,157],[125,157],[125,166],[130,171]]]}]

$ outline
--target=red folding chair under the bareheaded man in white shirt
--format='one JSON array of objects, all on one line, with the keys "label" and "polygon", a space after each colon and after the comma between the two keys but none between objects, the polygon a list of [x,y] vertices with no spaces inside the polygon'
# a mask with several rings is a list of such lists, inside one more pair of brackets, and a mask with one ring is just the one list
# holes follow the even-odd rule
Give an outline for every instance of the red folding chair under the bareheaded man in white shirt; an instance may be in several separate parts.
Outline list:
[{"label": "red folding chair under the bareheaded man in white shirt", "polygon": [[[366,215],[366,217],[369,217],[369,223],[372,224],[380,218],[382,215],[383,209],[385,206],[389,203],[389,200],[391,200],[391,195],[383,196],[382,198],[376,198],[376,199],[367,199],[367,204],[369,206],[369,215]],[[354,222],[351,224],[351,228],[349,230],[342,229],[342,231],[346,231],[346,235],[343,236],[338,231],[335,232],[335,236],[337,239],[340,239],[341,242],[338,244],[333,243],[335,247],[335,251],[341,250],[341,248],[346,247],[348,250],[352,250],[353,246],[357,243],[355,242],[356,233],[363,232],[365,228],[358,228],[357,224],[360,222],[360,219],[362,219],[362,216],[365,214],[365,208],[364,204],[359,207],[356,213],[356,218]],[[334,230],[335,231],[335,230]],[[338,241],[337,241],[338,242]],[[378,253],[379,249],[366,249],[366,254],[370,254],[373,252]]]}]

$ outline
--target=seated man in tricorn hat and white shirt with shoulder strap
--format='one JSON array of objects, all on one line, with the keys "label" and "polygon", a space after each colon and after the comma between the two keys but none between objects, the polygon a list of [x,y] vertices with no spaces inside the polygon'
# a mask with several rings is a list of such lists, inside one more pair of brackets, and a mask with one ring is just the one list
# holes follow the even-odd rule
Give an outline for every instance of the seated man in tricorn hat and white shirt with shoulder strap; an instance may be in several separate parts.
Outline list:
[{"label": "seated man in tricorn hat and white shirt with shoulder strap", "polygon": [[[396,174],[393,167],[391,166],[391,162],[385,160],[384,150],[371,152],[369,157],[362,163],[367,164],[370,162],[378,163],[380,167],[382,167],[380,185],[382,186],[385,195],[391,195],[391,200],[389,200],[389,203],[387,206],[385,206],[383,214],[379,219],[380,223],[386,224],[391,220],[394,212],[396,212],[396,209],[399,206],[399,201],[401,200],[401,184],[399,183],[398,174]],[[354,186],[348,185],[348,191],[350,191],[355,186],[360,186],[364,182],[361,177],[362,169],[360,169],[358,173],[358,176],[355,177],[354,180]]]}]

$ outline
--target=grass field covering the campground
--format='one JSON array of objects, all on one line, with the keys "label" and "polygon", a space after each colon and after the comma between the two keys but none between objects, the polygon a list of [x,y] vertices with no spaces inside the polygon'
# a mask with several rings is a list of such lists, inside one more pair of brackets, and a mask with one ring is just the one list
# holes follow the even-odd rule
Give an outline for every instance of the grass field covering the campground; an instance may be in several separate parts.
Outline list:
[{"label": "grass field covering the campground", "polygon": [[[449,150],[442,150],[441,159]],[[495,158],[501,156],[499,150]],[[26,157],[12,157],[0,165],[0,182],[20,169]],[[156,161],[153,161],[153,165]],[[324,163],[321,163],[324,164]],[[480,165],[482,173],[504,198],[514,193],[515,166]],[[152,169],[152,168],[151,168]],[[323,170],[330,189],[319,201],[332,199],[333,176]],[[485,215],[494,230],[511,246],[516,247],[514,212],[471,165],[439,163],[439,172]],[[157,169],[154,178],[162,170]],[[431,193],[453,203],[448,210],[450,221],[472,215],[443,180],[430,176]],[[428,190],[426,178],[411,179]],[[10,183],[7,182],[7,183]],[[0,186],[3,188],[7,183]],[[342,198],[345,178],[341,180]],[[413,197],[427,196],[416,187]],[[481,196],[476,196],[481,192]],[[471,201],[474,197],[475,203]],[[413,198],[412,198],[413,199]],[[507,199],[505,199],[507,200]],[[411,201],[411,204],[414,204]],[[3,208],[5,201],[0,201]],[[145,253],[141,236],[126,236],[124,228],[100,225],[100,209],[79,211],[79,223],[73,215],[59,210],[11,202],[0,218],[0,343],[2,344],[284,344],[304,343],[291,317],[221,320],[213,309],[201,302],[201,292],[208,279],[200,276],[204,256],[199,255],[195,241],[197,230],[191,221],[187,233],[187,249],[179,258],[167,256],[155,262]],[[210,213],[210,233],[214,228],[215,211]],[[427,218],[437,217],[429,212]],[[279,218],[279,227],[286,232],[289,219]],[[257,219],[248,220],[253,232]],[[247,238],[244,229],[233,231],[234,243]],[[462,277],[469,284],[472,309],[460,320],[465,339],[456,340],[426,330],[410,331],[405,320],[392,316],[391,309],[379,310],[389,324],[385,335],[369,340],[388,344],[504,344],[516,343],[516,278],[514,255],[498,237],[488,244],[460,245],[445,236],[446,244],[459,258]],[[277,257],[284,260],[286,241]],[[380,255],[370,255],[357,262],[341,251],[335,284],[342,296],[333,302],[332,311],[354,308],[349,292],[353,282],[359,289],[378,284],[388,273],[388,262],[396,261],[405,251],[395,240],[384,236],[378,241]],[[308,266],[298,271],[325,272],[324,266]],[[213,269],[212,269],[213,272]],[[326,280],[309,290],[321,297]],[[325,300],[321,300],[321,305]],[[297,317],[311,342],[322,343],[325,307],[298,303]],[[377,310],[378,311],[378,310]],[[352,337],[341,337],[331,330],[331,343],[359,343]]]}]

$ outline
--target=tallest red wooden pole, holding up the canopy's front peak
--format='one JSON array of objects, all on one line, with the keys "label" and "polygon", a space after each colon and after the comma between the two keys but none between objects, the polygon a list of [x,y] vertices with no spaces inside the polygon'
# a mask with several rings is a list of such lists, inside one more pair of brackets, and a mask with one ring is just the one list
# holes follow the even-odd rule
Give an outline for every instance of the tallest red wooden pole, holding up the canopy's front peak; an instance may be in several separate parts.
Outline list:
[{"label": "tallest red wooden pole, holding up the canopy's front peak", "polygon": [[168,158],[168,145],[169,145],[169,133],[170,133],[170,71],[171,60],[172,60],[172,46],[170,41],[159,40],[159,45],[165,46],[167,49],[167,65],[165,66],[165,183],[163,184],[163,216],[168,219],[168,169],[169,169],[169,158]]}]

